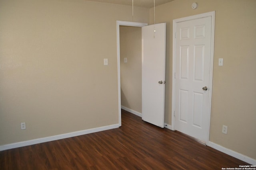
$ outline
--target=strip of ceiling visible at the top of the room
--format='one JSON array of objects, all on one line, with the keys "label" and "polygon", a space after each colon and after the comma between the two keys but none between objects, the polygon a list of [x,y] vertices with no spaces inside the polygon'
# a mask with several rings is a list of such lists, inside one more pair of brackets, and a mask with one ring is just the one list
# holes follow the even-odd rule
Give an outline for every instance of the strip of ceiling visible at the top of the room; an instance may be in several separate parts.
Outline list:
[{"label": "strip of ceiling visible at the top of the room", "polygon": [[[90,0],[95,2],[106,2],[106,3],[112,3],[112,4],[122,4],[122,5],[131,5],[132,6],[132,0]],[[173,0],[155,0],[155,6],[165,4],[167,2],[171,2]],[[140,6],[145,8],[152,8],[154,7],[154,0],[133,0],[134,6]]]}]

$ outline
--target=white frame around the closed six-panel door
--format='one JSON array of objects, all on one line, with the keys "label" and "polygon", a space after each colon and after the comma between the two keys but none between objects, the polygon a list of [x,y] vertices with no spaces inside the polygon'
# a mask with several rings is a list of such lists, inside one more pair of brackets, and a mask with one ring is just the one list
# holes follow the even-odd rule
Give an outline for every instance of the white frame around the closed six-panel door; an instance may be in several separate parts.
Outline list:
[{"label": "white frame around the closed six-panel door", "polygon": [[183,21],[196,20],[200,18],[212,17],[212,25],[211,25],[211,51],[210,51],[210,82],[209,82],[209,110],[208,114],[208,122],[207,122],[207,138],[206,145],[209,143],[210,137],[210,118],[211,118],[211,106],[212,106],[212,77],[213,77],[213,59],[214,59],[214,28],[215,28],[215,11],[207,12],[204,14],[198,14],[194,16],[188,16],[184,18],[179,18],[173,20],[173,33],[172,33],[172,130],[175,130],[175,70],[176,70],[176,26],[177,23]]}]

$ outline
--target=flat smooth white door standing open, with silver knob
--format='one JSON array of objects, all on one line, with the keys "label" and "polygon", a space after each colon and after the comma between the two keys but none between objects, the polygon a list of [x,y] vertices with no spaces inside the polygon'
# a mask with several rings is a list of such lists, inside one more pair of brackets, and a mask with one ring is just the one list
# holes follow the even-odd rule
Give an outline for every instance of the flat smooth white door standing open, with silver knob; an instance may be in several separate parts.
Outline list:
[{"label": "flat smooth white door standing open, with silver knob", "polygon": [[166,23],[142,27],[142,119],[164,127]]}]

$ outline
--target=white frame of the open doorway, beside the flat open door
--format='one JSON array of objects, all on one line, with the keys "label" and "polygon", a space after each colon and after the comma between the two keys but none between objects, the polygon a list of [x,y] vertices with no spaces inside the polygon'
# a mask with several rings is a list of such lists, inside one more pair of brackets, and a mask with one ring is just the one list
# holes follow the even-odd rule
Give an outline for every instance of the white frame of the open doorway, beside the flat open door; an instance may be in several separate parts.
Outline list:
[{"label": "white frame of the open doorway, beside the flat open door", "polygon": [[143,27],[148,23],[141,22],[130,22],[130,21],[116,21],[116,44],[117,44],[117,79],[118,79],[118,124],[119,127],[122,125],[121,120],[121,82],[120,82],[120,32],[119,26],[132,26],[132,27]]}]

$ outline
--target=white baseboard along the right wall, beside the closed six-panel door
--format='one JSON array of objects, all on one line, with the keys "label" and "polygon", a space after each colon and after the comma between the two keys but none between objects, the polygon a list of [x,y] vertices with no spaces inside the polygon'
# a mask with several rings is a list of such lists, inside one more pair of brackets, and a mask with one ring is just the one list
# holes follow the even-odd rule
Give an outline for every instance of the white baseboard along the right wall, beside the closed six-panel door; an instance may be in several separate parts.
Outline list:
[{"label": "white baseboard along the right wall, beside the closed six-panel door", "polygon": [[235,152],[234,150],[227,149],[227,148],[222,147],[222,146],[220,146],[216,143],[213,143],[211,141],[209,141],[207,145],[209,147],[212,147],[212,148],[216,149],[216,150],[219,150],[220,152],[224,152],[225,154],[228,154],[228,155],[233,156],[235,158],[238,158],[238,159],[240,159],[244,162],[247,162],[248,164],[256,165],[256,160],[255,159],[250,158],[248,156],[245,156],[243,154],[240,154],[238,152]]}]

